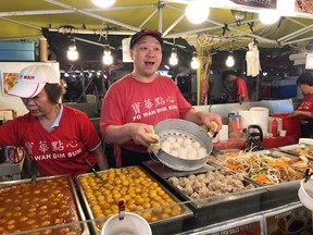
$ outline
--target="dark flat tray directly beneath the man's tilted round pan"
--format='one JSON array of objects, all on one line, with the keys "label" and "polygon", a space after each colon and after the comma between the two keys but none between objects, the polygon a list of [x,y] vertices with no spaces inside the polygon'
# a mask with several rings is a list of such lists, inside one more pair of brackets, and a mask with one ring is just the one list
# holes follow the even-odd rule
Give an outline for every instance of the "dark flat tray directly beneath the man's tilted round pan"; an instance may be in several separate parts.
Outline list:
[{"label": "dark flat tray directly beneath the man's tilted round pan", "polygon": [[[186,175],[186,172],[175,171],[175,170],[164,165],[160,161],[150,160],[150,161],[142,162],[142,164],[145,168],[147,168],[148,170],[153,172],[155,175],[158,175],[162,180],[168,178],[171,176],[184,176],[184,175]],[[214,170],[216,170],[216,168],[220,168],[220,166],[206,163],[202,168],[195,170],[195,171],[190,171],[187,174],[205,173],[208,171],[214,171]]]}]

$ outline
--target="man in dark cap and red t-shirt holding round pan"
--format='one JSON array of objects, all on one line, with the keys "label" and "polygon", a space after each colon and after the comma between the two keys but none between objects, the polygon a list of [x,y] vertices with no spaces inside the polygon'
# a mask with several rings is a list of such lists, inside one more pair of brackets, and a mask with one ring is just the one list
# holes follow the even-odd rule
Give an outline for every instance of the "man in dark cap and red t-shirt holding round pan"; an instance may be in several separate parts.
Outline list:
[{"label": "man in dark cap and red t-shirt holding round pan", "polygon": [[[158,30],[140,30],[130,39],[134,70],[109,87],[102,101],[100,132],[114,145],[117,166],[137,165],[150,160],[147,152],[155,139],[149,125],[166,119],[184,119],[213,128],[222,126],[215,113],[195,110],[172,78],[156,74],[162,61],[163,39]],[[108,158],[110,158],[108,156]]]}]

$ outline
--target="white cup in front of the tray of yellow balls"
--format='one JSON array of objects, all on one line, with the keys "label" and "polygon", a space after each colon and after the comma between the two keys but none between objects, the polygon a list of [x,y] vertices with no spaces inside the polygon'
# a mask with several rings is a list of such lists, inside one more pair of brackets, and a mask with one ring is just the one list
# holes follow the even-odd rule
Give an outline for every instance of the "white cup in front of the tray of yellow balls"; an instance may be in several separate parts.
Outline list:
[{"label": "white cup in front of the tray of yellow balls", "polygon": [[118,214],[111,217],[104,223],[101,235],[152,235],[152,231],[142,217],[125,212],[123,220],[118,219]]}]

